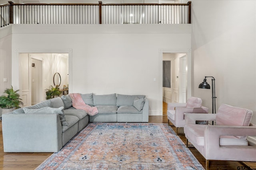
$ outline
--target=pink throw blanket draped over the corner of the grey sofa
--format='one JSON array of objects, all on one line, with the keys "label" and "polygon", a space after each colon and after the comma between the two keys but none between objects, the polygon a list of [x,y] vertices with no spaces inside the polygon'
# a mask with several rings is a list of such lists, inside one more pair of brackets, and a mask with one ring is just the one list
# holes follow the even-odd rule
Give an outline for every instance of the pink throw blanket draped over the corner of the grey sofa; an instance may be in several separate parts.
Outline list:
[{"label": "pink throw blanket draped over the corner of the grey sofa", "polygon": [[79,93],[70,93],[68,95],[72,98],[72,106],[76,109],[83,109],[90,116],[96,115],[98,113],[97,107],[91,107],[87,105]]}]

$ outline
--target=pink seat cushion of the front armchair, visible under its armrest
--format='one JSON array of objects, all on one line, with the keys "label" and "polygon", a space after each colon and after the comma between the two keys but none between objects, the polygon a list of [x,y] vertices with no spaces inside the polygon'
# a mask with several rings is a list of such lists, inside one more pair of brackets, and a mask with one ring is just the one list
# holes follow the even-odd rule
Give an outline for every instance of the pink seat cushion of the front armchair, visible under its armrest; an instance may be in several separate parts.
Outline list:
[{"label": "pink seat cushion of the front armchair, visible under its armrest", "polygon": [[[188,124],[185,125],[185,134],[191,143],[196,143],[196,145],[204,146],[204,129],[208,125],[195,125]],[[247,146],[248,141],[246,139],[238,139],[234,136],[222,136],[220,137],[220,145],[240,145]]]}]

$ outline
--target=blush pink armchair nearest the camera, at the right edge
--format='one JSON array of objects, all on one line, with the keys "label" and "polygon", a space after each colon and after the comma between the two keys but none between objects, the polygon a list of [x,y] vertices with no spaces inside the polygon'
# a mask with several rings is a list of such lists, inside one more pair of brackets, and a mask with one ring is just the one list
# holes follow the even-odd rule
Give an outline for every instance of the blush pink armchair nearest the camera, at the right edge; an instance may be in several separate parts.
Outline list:
[{"label": "blush pink armchair nearest the camera, at the right edge", "polygon": [[[250,123],[252,111],[222,104],[216,114],[185,114],[184,133],[188,141],[209,160],[256,161],[256,146],[246,136],[256,136]],[[196,120],[216,121],[216,125],[198,125]]]}]

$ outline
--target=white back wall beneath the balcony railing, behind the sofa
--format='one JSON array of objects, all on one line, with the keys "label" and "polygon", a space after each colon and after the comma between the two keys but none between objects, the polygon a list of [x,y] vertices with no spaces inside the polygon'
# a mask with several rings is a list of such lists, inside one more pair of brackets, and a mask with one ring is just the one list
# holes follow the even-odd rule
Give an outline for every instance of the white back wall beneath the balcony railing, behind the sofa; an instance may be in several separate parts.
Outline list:
[{"label": "white back wall beneath the balcony railing, behind the sofa", "polygon": [[72,49],[72,92],[144,94],[150,114],[160,114],[159,49],[190,49],[190,26],[13,25],[12,56]]}]

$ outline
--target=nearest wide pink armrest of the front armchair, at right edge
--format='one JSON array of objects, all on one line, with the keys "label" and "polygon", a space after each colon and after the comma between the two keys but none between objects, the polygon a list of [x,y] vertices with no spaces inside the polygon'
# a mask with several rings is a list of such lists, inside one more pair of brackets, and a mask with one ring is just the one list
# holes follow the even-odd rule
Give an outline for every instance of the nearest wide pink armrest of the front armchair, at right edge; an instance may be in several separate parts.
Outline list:
[{"label": "nearest wide pink armrest of the front armchair, at right edge", "polygon": [[220,136],[256,136],[256,127],[209,125],[204,129],[206,159],[255,161],[256,147],[220,146]]}]

